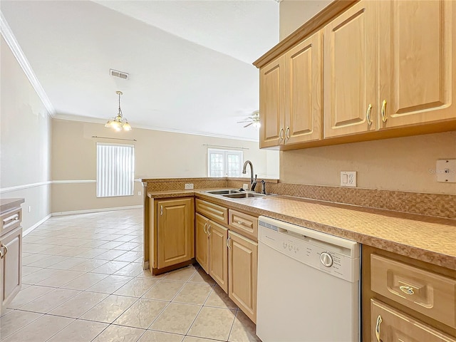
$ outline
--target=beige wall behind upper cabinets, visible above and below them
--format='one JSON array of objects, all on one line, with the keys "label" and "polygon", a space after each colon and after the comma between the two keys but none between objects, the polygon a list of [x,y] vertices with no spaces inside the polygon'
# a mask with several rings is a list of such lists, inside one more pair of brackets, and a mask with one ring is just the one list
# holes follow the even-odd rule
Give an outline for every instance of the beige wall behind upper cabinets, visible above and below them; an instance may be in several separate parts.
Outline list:
[{"label": "beige wall behind upper cabinets, visible above and below them", "polygon": [[[281,1],[281,40],[330,2]],[[456,195],[456,184],[436,181],[445,158],[456,158],[456,132],[281,152],[280,180],[339,186],[341,171],[358,171],[358,187]]]}]

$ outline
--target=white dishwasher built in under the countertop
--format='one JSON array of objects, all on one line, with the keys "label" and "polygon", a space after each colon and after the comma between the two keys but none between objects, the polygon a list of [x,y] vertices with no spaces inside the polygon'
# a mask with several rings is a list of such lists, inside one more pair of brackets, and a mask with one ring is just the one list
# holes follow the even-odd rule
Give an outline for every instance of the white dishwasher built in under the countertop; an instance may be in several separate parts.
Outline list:
[{"label": "white dishwasher built in under the countertop", "polygon": [[257,336],[358,342],[361,245],[259,217]]}]

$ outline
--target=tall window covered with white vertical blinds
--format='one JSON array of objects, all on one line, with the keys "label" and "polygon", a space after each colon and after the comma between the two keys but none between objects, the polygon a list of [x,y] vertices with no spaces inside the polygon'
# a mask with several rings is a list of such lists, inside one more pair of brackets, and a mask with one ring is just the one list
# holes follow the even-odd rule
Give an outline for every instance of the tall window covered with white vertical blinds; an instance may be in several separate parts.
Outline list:
[{"label": "tall window covered with white vertical blinds", "polygon": [[97,142],[97,197],[131,196],[135,146]]}]

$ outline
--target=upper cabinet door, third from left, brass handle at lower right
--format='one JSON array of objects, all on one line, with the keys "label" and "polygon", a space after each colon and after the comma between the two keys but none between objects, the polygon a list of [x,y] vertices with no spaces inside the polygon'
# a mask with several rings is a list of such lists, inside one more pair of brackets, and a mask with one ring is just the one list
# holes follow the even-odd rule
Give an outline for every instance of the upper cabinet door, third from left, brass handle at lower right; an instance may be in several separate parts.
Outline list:
[{"label": "upper cabinet door, third from left, brass handle at lower right", "polygon": [[376,4],[360,1],[324,28],[325,138],[376,129]]}]

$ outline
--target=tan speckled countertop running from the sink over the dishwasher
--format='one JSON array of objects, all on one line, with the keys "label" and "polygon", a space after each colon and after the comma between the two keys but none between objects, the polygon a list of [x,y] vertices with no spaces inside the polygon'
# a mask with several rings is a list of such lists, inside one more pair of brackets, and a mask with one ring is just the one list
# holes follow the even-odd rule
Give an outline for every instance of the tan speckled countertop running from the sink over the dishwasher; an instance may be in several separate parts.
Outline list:
[{"label": "tan speckled countertop running from the sink over the dishwasher", "polygon": [[[214,190],[214,189],[212,189]],[[150,198],[196,196],[281,219],[456,270],[456,221],[289,196],[225,199],[204,189],[148,192]]]}]

